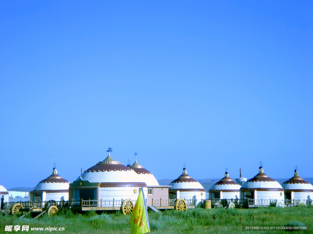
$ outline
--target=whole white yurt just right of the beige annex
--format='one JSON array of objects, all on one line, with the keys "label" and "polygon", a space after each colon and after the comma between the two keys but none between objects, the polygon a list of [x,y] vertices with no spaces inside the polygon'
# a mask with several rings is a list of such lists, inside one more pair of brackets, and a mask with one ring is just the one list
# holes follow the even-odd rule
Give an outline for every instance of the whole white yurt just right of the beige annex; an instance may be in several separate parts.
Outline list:
[{"label": "whole white yurt just right of the beige annex", "polygon": [[197,180],[187,174],[186,165],[183,167],[182,174],[169,185],[172,186],[172,189],[169,189],[169,197],[172,199],[205,199],[205,189]]}]

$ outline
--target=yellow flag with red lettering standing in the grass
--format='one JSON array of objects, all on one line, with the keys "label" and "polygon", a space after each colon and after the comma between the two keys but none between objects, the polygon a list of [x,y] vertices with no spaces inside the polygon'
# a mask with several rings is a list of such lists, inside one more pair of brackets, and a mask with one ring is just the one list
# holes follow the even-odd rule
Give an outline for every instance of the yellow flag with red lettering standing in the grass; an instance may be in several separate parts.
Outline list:
[{"label": "yellow flag with red lettering standing in the grass", "polygon": [[139,190],[139,196],[131,213],[129,223],[131,224],[131,234],[150,233],[147,204],[142,188]]}]

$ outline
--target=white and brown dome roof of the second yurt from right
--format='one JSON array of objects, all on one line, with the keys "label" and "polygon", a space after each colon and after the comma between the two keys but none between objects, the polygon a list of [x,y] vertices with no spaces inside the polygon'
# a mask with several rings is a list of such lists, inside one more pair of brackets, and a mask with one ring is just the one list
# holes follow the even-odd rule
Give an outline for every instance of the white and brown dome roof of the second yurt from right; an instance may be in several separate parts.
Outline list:
[{"label": "white and brown dome roof of the second yurt from right", "polygon": [[245,190],[250,188],[257,191],[284,191],[280,183],[264,173],[262,165],[259,167],[259,173],[247,180],[240,189]]}]

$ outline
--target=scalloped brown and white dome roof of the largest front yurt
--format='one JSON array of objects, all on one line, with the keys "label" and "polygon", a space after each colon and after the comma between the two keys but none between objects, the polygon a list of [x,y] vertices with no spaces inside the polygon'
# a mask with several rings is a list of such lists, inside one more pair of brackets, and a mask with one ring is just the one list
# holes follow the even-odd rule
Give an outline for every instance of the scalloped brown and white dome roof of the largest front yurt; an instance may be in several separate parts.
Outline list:
[{"label": "scalloped brown and white dome roof of the largest front yurt", "polygon": [[133,169],[111,158],[110,152],[105,160],[85,170],[76,180],[80,178],[91,183],[142,182]]}]

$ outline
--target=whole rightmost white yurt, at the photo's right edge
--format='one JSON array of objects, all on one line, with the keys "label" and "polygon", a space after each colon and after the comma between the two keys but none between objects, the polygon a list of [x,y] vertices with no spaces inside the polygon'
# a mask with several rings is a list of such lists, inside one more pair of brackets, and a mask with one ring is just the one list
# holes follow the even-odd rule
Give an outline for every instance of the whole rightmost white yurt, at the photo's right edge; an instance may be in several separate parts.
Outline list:
[{"label": "whole rightmost white yurt, at the photo's right edge", "polygon": [[297,171],[298,168],[295,167],[295,175],[282,184],[285,189],[285,200],[304,200],[306,203],[311,203],[313,185],[302,179]]}]

